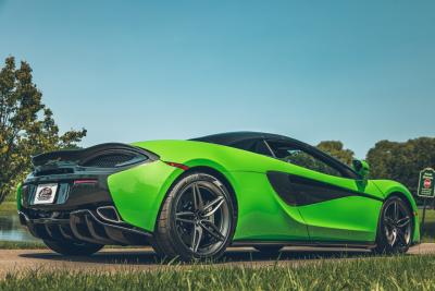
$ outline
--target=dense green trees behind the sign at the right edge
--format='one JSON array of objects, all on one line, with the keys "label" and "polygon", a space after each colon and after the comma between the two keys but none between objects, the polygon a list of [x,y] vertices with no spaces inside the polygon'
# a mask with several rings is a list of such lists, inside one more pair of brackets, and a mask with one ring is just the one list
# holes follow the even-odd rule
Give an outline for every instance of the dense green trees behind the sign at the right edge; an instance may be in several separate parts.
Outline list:
[{"label": "dense green trees behind the sign at the right edge", "polygon": [[419,172],[435,166],[435,138],[419,137],[405,143],[381,141],[368,153],[372,179],[391,179],[417,193]]}]

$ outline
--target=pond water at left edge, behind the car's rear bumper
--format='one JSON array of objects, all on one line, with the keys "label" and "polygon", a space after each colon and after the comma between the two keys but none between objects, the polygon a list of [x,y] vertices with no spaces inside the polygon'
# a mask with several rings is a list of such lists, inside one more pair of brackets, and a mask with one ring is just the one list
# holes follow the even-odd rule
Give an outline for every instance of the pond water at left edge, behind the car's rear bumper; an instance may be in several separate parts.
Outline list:
[{"label": "pond water at left edge, behind the car's rear bumper", "polygon": [[20,225],[17,214],[5,215],[0,213],[0,241],[35,242],[38,239]]}]

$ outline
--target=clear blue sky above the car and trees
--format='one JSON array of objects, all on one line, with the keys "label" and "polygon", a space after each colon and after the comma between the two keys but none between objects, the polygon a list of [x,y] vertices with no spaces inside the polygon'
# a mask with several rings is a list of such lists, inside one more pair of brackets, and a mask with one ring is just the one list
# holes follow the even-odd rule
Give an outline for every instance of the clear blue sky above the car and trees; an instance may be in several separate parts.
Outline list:
[{"label": "clear blue sky above the car and trees", "polygon": [[435,1],[0,0],[10,54],[84,146],[252,130],[364,157],[435,136]]}]

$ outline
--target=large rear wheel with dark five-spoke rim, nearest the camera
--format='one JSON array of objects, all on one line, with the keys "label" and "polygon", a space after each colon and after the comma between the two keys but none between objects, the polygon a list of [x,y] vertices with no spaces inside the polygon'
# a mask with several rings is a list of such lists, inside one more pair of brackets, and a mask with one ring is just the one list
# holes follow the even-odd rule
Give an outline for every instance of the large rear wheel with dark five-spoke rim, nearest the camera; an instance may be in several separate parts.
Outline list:
[{"label": "large rear wheel with dark five-spoke rim, nearest the camera", "polygon": [[235,226],[233,196],[224,183],[211,174],[191,172],[169,191],[152,246],[167,258],[215,259],[231,243]]}]

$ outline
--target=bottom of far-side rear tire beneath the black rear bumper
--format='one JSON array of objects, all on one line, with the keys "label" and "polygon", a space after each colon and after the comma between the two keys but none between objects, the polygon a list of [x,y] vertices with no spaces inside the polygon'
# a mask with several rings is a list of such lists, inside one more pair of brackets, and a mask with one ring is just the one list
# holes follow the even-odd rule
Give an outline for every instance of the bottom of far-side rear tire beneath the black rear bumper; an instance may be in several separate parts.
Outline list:
[{"label": "bottom of far-side rear tire beneath the black rear bumper", "polygon": [[103,245],[92,243],[74,243],[69,241],[47,241],[44,243],[52,251],[65,256],[90,256],[100,251]]}]

